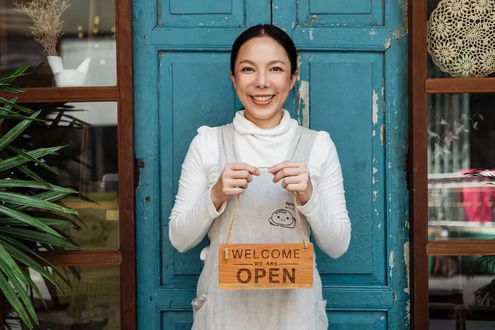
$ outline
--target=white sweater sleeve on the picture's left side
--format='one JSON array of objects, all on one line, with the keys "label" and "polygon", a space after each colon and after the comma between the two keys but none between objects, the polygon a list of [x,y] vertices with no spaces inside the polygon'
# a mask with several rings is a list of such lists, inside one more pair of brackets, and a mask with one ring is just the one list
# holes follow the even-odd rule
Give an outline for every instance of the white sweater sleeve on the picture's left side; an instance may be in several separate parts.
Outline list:
[{"label": "white sweater sleeve on the picture's left side", "polygon": [[[208,171],[215,171],[204,159],[208,154],[208,146],[213,144],[207,138],[210,128],[198,129],[198,135],[189,146],[182,164],[179,189],[175,197],[168,224],[170,243],[179,252],[185,252],[204,238],[215,218],[225,209],[222,204],[217,211],[211,201],[212,182],[208,182]],[[215,144],[214,144],[215,145]],[[216,145],[215,145],[216,146]],[[210,176],[211,177],[211,176]]]}]

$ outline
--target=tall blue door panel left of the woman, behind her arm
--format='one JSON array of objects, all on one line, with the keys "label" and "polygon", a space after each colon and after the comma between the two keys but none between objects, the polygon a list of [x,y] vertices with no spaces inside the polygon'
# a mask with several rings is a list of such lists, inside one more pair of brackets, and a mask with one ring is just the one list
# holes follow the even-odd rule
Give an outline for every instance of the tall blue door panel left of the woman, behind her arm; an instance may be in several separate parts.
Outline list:
[{"label": "tall blue door panel left of the woman, behind her arm", "polygon": [[165,217],[173,207],[181,166],[189,143],[199,126],[219,126],[232,120],[240,103],[228,74],[230,54],[226,52],[163,51],[159,54],[158,99],[160,123],[161,185],[161,285],[195,286],[202,269],[202,243],[179,253],[168,239]]}]

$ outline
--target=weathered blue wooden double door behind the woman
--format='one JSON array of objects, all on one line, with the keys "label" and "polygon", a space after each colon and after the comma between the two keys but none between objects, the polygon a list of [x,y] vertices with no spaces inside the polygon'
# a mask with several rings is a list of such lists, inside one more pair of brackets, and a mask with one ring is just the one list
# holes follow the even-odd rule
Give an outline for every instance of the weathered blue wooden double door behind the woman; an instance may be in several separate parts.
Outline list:
[{"label": "weathered blue wooden double door behind the woman", "polygon": [[[385,2],[385,3],[384,3]],[[286,107],[328,131],[341,158],[352,240],[317,251],[332,330],[407,329],[409,318],[407,22],[400,0],[134,0],[138,326],[191,328],[202,264],[168,240],[181,164],[200,125],[241,107],[229,51],[247,26],[273,22],[299,50]]]}]

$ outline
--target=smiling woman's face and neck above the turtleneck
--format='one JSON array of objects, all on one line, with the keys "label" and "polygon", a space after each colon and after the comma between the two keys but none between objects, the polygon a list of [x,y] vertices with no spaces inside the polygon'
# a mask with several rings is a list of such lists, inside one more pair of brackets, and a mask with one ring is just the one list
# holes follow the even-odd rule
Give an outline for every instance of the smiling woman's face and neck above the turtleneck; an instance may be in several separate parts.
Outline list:
[{"label": "smiling woman's face and neck above the turtleneck", "polygon": [[282,107],[297,78],[297,72],[291,76],[284,47],[266,36],[250,39],[239,49],[235,75],[231,72],[230,77],[248,120],[261,128],[280,123]]}]

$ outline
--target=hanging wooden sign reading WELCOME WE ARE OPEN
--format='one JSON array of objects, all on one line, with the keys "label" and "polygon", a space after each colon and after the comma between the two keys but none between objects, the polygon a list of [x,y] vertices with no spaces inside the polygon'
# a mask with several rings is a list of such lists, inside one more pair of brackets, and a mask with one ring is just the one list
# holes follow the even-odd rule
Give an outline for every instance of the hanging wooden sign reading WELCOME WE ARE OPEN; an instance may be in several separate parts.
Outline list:
[{"label": "hanging wooden sign reading WELCOME WE ARE OPEN", "polygon": [[[313,244],[220,244],[221,289],[288,289],[313,287]],[[228,258],[224,248],[228,247]]]}]

